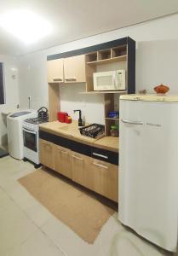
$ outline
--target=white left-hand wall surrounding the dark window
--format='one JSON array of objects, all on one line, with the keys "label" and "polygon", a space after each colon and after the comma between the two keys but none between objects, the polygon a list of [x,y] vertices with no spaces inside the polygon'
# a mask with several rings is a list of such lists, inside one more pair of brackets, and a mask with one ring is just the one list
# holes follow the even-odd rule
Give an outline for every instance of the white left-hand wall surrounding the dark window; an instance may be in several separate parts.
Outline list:
[{"label": "white left-hand wall surrounding the dark window", "polygon": [[5,104],[0,105],[0,145],[2,145],[7,143],[7,126],[2,112],[17,108],[17,104],[19,104],[19,86],[16,58],[9,55],[0,55],[0,62],[4,63],[6,100]]}]

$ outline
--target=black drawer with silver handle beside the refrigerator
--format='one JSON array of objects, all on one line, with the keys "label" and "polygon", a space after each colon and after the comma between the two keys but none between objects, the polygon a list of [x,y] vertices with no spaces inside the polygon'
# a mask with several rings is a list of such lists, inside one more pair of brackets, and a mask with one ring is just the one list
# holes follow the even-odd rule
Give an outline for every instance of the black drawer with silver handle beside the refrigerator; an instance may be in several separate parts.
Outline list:
[{"label": "black drawer with silver handle beside the refrigerator", "polygon": [[102,148],[91,148],[91,156],[98,160],[103,160],[118,166],[118,153]]}]

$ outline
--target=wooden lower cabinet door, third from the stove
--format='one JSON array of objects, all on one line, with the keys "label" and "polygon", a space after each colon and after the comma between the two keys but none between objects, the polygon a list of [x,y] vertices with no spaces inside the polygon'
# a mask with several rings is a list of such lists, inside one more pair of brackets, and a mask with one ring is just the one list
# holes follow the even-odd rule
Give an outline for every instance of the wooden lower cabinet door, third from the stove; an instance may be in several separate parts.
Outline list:
[{"label": "wooden lower cabinet door, third from the stove", "polygon": [[87,158],[83,154],[72,152],[72,180],[86,186]]}]

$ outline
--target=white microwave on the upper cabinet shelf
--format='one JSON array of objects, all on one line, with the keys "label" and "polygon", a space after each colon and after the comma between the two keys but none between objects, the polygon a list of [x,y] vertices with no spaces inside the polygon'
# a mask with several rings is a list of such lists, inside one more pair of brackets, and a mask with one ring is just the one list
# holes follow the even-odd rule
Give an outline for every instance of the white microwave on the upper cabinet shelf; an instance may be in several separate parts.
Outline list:
[{"label": "white microwave on the upper cabinet shelf", "polygon": [[94,73],[94,90],[126,90],[125,70]]}]

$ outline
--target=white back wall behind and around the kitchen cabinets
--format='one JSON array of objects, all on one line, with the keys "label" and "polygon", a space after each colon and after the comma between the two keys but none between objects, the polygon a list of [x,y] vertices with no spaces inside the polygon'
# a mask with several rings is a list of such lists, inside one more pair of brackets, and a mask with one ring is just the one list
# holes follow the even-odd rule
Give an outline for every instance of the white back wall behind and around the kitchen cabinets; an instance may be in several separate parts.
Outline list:
[{"label": "white back wall behind and around the kitchen cabinets", "polygon": [[[175,32],[178,15],[129,26],[94,37],[61,44],[30,55],[20,56],[20,107],[27,107],[27,96],[32,96],[32,108],[48,104],[46,57],[72,49],[101,44],[129,36],[136,41],[136,90],[152,88],[160,83],[169,84],[170,93],[178,94],[178,33]],[[103,122],[103,96],[81,96],[82,87],[66,86],[61,90],[61,110],[72,113],[82,108],[89,122]],[[81,103],[79,103],[81,102]]]}]

